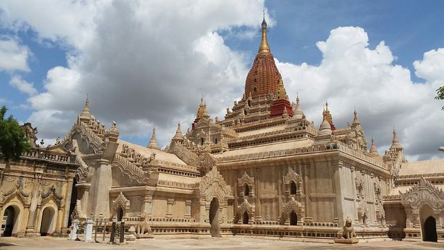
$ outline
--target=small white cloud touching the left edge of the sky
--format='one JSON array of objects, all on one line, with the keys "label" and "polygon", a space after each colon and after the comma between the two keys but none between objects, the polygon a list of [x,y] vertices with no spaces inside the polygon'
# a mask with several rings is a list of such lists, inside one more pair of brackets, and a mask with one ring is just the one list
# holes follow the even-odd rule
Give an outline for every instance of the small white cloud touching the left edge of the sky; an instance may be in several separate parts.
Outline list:
[{"label": "small white cloud touching the left edge of the sky", "polygon": [[15,38],[0,35],[0,72],[15,70],[28,72],[29,56],[31,56],[31,51],[28,47],[20,45]]}]

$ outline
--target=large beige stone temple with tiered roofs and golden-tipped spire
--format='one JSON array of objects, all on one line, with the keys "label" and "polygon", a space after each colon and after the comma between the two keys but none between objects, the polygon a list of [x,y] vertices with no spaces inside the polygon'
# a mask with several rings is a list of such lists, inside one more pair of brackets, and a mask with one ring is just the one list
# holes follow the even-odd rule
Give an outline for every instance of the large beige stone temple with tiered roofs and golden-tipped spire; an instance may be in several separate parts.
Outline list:
[{"label": "large beige stone temple with tiered roofs and golden-tipped spire", "polygon": [[[69,159],[77,159],[72,210],[80,222],[101,217],[123,220],[130,227],[147,220],[154,237],[333,240],[341,236],[338,231],[354,227],[349,236],[361,239],[444,240],[443,160],[408,163],[394,130],[391,147],[379,155],[375,140],[368,149],[356,110],[350,112],[351,125],[336,127],[325,103],[319,112],[323,122],[316,125],[301,103],[303,97],[291,103],[287,96],[268,45],[265,19],[240,100],[227,108],[223,119],[213,120],[201,99],[191,128],[182,133],[178,124],[164,149],[155,129],[146,147],[119,139],[117,124],[105,129],[87,101],[60,143]],[[62,165],[71,173],[69,163]],[[8,171],[3,175],[11,176],[9,182],[17,178]],[[8,209],[22,215],[33,206],[32,199],[22,197],[31,194],[18,191],[26,182],[17,181],[13,191],[5,183],[1,215]],[[66,194],[67,188],[53,186],[57,203],[56,194]],[[43,203],[37,202],[37,209],[42,210]],[[53,209],[65,213],[66,204]],[[59,220],[51,233],[64,233],[67,219]],[[26,219],[7,221],[14,224],[12,234],[40,230]]]}]

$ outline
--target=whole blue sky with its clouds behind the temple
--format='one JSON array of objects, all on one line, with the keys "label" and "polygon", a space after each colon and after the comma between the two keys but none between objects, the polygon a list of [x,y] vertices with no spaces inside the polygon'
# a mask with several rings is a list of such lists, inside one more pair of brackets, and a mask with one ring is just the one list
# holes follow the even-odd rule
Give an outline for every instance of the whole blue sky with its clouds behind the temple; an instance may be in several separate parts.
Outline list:
[{"label": "whole blue sky with its clouds behind the temple", "polygon": [[[169,142],[177,122],[184,123],[182,128],[185,131],[192,122],[200,95],[207,98],[212,117],[223,117],[223,110],[231,107],[232,101],[241,98],[246,72],[257,53],[262,9],[266,8],[270,24],[268,42],[273,56],[280,62],[278,67],[286,81],[287,92],[291,99],[295,98],[296,90],[305,95],[301,96],[302,106],[305,100],[307,114],[315,123],[321,122],[321,117],[316,114],[325,99],[331,100],[332,113],[339,127],[345,126],[350,119],[350,110],[355,106],[361,109],[362,119],[367,122],[364,128],[368,132],[368,140],[374,136],[381,151],[391,143],[391,128],[397,126],[398,136],[401,142],[404,139],[407,155],[411,158],[442,157],[434,150],[441,142],[436,139],[429,142],[432,140],[429,138],[436,138],[437,133],[442,133],[436,126],[424,128],[429,132],[423,135],[420,132],[422,128],[407,124],[409,114],[415,113],[422,115],[416,119],[432,124],[443,120],[443,113],[434,113],[434,109],[444,104],[433,100],[432,91],[444,81],[444,77],[436,73],[440,69],[444,72],[444,69],[439,64],[438,69],[434,67],[436,58],[441,56],[439,49],[444,47],[443,1],[264,3],[251,0],[248,3],[221,1],[213,6],[207,6],[205,1],[184,1],[181,4],[168,1],[74,1],[49,3],[53,8],[44,8],[45,4],[0,3],[0,40],[12,39],[30,52],[26,58],[28,71],[1,69],[0,66],[0,105],[8,106],[10,113],[21,122],[31,120],[37,123],[42,138],[50,140],[56,135],[63,136],[63,131],[70,128],[69,124],[76,119],[75,114],[81,110],[86,92],[92,99],[91,108],[96,110],[95,115],[108,123],[117,120],[117,124],[121,124],[121,137],[138,144],[147,143],[153,126],[160,127],[157,138],[161,144]],[[336,31],[336,37],[331,31]],[[368,46],[365,38],[358,38],[359,35],[368,35]],[[341,41],[339,38],[344,36],[350,38],[343,40],[343,47],[332,43],[334,39]],[[338,51],[350,51],[354,45],[347,44],[347,41],[357,39],[361,51],[350,57],[352,59],[359,59],[359,53],[363,51],[377,53],[373,59],[384,62],[373,65],[380,69],[381,76],[377,79],[381,83],[355,75],[341,78],[329,71],[335,62],[336,65],[344,62],[359,65],[361,62],[350,62],[349,54],[344,54],[323,63],[323,58],[335,48],[321,51],[316,43],[324,41],[329,44],[327,39],[330,38]],[[385,42],[385,46],[378,50],[381,41]],[[157,47],[147,44],[156,44]],[[435,61],[425,59],[427,51],[436,51]],[[71,63],[67,62],[67,56],[74,58]],[[422,78],[415,74],[415,60],[422,62]],[[190,66],[199,64],[197,70]],[[304,64],[309,67],[304,67]],[[55,67],[58,70],[53,70]],[[366,69],[371,70],[372,67]],[[402,72],[409,72],[411,79],[403,78]],[[69,74],[69,77],[64,79],[64,74]],[[26,83],[31,83],[37,94],[30,96],[10,85],[12,76],[20,76]],[[307,76],[329,79],[311,82]],[[337,91],[330,89],[331,85],[338,83],[339,86],[341,81],[350,78],[357,78],[356,86],[343,85]],[[391,83],[391,78],[403,79],[403,82]],[[330,85],[323,85],[327,82]],[[428,90],[418,89],[412,83],[425,84]],[[177,87],[178,84],[183,85],[183,89]],[[366,85],[369,84],[375,85],[375,88],[378,84],[392,84],[394,87],[387,92],[391,91],[392,96],[403,93],[404,97],[388,98],[384,89],[367,90]],[[309,90],[311,85],[325,91],[313,94]],[[398,91],[400,88],[402,90]],[[345,92],[361,90],[363,96],[358,100],[367,99],[368,95],[372,97],[367,103],[344,96]],[[74,94],[67,95],[66,92]],[[136,97],[142,93],[145,95]],[[418,93],[422,96],[416,98]],[[392,104],[387,104],[386,109],[379,109],[373,107],[373,99],[382,102],[393,100],[389,101]],[[411,99],[411,102],[405,99]],[[116,102],[119,106],[114,106]],[[397,103],[414,110],[400,111],[402,107],[394,107]],[[430,108],[427,106],[421,110],[420,104],[424,103],[430,104]],[[425,115],[432,111],[435,115]],[[432,119],[431,116],[438,118]],[[378,122],[374,122],[375,119]],[[425,143],[429,143],[425,147],[427,149],[420,149],[418,145]]]}]

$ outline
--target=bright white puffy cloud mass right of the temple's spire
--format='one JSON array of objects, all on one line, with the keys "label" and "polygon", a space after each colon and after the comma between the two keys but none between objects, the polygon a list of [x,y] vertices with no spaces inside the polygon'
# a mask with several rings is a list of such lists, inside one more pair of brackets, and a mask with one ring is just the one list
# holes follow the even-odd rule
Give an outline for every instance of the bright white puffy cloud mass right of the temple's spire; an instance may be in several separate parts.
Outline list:
[{"label": "bright white puffy cloud mass right of the temple's spire", "polygon": [[368,141],[375,138],[379,153],[390,147],[395,126],[409,160],[439,156],[444,116],[442,103],[433,97],[436,83],[444,80],[444,49],[426,52],[413,63],[417,76],[426,80],[413,83],[409,69],[395,64],[384,41],[375,49],[368,47],[363,28],[335,28],[316,46],[323,54],[318,66],[277,60],[287,93],[294,99],[299,92],[307,118],[320,124],[328,101],[334,124],[344,127],[352,122],[356,107]]}]

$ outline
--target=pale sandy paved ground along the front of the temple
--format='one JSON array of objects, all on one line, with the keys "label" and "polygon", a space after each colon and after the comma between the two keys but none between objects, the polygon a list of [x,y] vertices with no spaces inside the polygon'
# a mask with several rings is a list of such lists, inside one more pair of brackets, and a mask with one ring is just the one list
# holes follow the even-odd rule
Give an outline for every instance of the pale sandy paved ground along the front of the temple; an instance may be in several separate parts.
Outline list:
[{"label": "pale sandy paved ground along the front of the temple", "polygon": [[361,241],[358,244],[347,245],[236,236],[233,238],[146,239],[118,246],[42,237],[36,239],[0,238],[0,249],[444,249],[444,243],[386,240]]}]

